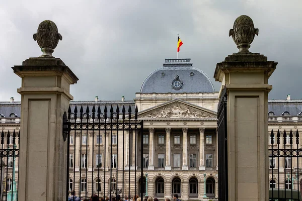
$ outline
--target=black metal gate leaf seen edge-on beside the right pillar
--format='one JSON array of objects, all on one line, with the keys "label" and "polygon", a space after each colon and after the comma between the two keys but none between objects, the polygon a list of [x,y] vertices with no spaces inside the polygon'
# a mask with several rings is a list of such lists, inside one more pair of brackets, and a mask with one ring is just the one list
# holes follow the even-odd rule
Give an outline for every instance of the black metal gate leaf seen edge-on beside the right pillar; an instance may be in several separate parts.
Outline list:
[{"label": "black metal gate leaf seen edge-on beside the right pillar", "polygon": [[226,126],[226,102],[228,95],[224,87],[218,104],[218,200],[228,201],[228,133]]}]

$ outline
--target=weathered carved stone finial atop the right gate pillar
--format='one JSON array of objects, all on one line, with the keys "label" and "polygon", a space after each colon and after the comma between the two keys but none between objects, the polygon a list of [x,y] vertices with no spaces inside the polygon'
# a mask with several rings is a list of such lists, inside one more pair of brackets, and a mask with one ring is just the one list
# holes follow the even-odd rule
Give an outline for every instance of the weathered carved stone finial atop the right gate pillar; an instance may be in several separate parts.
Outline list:
[{"label": "weathered carved stone finial atop the right gate pillar", "polygon": [[254,40],[255,34],[258,36],[258,29],[255,29],[253,20],[249,16],[239,16],[235,22],[230,35],[233,37],[239,52],[238,54],[249,54],[249,48]]}]

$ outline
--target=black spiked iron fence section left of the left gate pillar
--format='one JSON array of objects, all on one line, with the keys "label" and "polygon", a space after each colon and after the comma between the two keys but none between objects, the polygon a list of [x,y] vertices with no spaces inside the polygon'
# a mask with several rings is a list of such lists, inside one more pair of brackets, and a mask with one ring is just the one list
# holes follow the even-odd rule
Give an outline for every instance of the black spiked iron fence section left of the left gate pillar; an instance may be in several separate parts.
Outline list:
[{"label": "black spiked iron fence section left of the left gate pillar", "polygon": [[2,130],[0,149],[0,200],[18,199],[20,130]]}]

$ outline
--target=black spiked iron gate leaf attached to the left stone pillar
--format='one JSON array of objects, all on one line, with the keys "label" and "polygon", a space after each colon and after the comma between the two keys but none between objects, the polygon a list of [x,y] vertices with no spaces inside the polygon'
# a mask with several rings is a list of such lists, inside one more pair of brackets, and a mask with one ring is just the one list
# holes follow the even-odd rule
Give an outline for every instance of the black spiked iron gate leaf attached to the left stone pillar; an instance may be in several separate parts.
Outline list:
[{"label": "black spiked iron gate leaf attached to the left stone pillar", "polygon": [[[143,178],[142,149],[137,153],[138,143],[140,147],[143,143],[140,136],[143,122],[137,120],[137,107],[134,113],[132,110],[129,106],[126,112],[123,106],[120,112],[118,105],[111,105],[107,111],[107,106],[93,105],[85,110],[81,106],[78,112],[77,106],[69,107],[63,116],[63,135],[68,143],[67,196],[84,199],[97,194],[111,200],[119,194],[123,199],[126,196],[136,199],[138,189],[144,189],[143,182],[139,188],[136,186],[139,170],[139,177]],[[135,143],[131,144],[133,138]],[[135,163],[130,168],[132,155]],[[71,190],[75,195],[70,194]],[[139,194],[142,197],[143,190]]]}]

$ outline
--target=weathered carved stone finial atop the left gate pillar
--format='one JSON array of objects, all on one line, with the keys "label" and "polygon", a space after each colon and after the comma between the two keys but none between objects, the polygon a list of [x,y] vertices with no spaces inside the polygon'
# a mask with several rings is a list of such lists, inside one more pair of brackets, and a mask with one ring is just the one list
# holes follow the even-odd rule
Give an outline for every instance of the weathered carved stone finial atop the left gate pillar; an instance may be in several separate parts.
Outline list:
[{"label": "weathered carved stone finial atop the left gate pillar", "polygon": [[43,54],[40,57],[53,57],[53,49],[57,46],[59,40],[62,40],[61,34],[54,22],[44,20],[38,27],[38,32],[34,34],[34,40],[37,41]]}]

